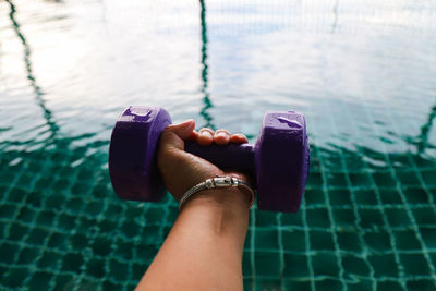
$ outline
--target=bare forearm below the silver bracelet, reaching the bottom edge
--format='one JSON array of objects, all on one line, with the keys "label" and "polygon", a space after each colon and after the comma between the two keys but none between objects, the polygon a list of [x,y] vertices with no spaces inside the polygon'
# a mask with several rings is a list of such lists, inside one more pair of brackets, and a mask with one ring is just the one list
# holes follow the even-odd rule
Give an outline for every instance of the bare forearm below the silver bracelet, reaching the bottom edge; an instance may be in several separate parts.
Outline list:
[{"label": "bare forearm below the silver bracelet, reaching the bottom edge", "polygon": [[182,208],[138,290],[242,290],[247,223],[241,190],[198,195]]}]

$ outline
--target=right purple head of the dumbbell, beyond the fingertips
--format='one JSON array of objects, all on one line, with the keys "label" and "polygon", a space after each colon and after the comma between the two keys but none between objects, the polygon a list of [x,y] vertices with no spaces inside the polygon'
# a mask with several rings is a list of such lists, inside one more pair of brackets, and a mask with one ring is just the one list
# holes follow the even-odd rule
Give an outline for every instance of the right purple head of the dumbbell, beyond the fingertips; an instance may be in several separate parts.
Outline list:
[{"label": "right purple head of the dumbbell, beyond the fingertips", "polygon": [[295,111],[267,112],[254,149],[259,209],[296,213],[310,165],[304,117]]}]

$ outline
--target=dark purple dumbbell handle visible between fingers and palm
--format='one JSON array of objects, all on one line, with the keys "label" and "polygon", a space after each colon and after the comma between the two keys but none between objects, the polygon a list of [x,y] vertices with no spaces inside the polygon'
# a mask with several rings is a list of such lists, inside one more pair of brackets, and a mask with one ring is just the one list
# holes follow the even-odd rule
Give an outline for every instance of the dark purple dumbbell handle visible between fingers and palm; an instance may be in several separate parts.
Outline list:
[{"label": "dark purple dumbbell handle visible between fingers and palm", "polygon": [[222,170],[235,170],[249,174],[255,181],[254,146],[250,144],[228,144],[209,146],[186,141],[185,150],[210,161]]}]

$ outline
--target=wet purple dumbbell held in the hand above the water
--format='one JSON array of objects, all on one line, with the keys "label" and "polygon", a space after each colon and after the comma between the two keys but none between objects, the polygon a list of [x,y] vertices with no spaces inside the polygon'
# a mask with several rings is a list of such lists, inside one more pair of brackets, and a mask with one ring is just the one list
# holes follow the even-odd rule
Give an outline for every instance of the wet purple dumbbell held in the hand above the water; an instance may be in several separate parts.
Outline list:
[{"label": "wet purple dumbbell held in the hand above the water", "polygon": [[[131,106],[118,119],[109,148],[109,173],[118,196],[159,201],[167,192],[156,165],[161,132],[171,124],[162,108]],[[267,112],[254,145],[201,146],[185,150],[221,169],[247,173],[262,210],[296,213],[308,175],[310,150],[304,117],[294,111]]]}]

